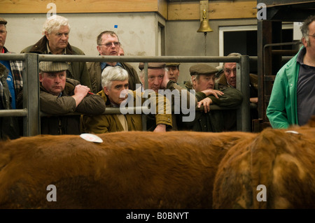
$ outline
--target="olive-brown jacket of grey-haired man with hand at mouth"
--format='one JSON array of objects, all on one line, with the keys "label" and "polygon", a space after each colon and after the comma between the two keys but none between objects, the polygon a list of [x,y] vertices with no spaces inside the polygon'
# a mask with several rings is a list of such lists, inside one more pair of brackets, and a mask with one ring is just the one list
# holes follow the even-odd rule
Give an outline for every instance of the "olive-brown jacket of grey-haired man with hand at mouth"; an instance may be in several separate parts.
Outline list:
[{"label": "olive-brown jacket of grey-haired man with hand at mouth", "polygon": [[[106,94],[104,90],[97,93],[102,96],[102,99],[106,102],[106,106],[111,106],[109,100],[107,100]],[[134,102],[136,102],[137,98],[141,99],[141,104],[144,103],[144,97],[140,95],[137,97],[136,91],[129,91],[129,94],[134,96]],[[166,113],[164,111],[164,113]],[[151,116],[151,115],[150,115]],[[156,114],[153,115],[155,117],[155,124],[152,129],[156,127],[158,124],[166,124],[169,127],[172,127],[172,114]],[[142,118],[139,114],[125,114],[125,118],[128,124],[128,131],[142,131]],[[123,126],[120,124],[118,120],[118,116],[116,114],[102,114],[102,115],[82,115],[82,127],[83,131],[93,134],[103,134],[109,132],[116,131],[124,131]],[[150,129],[150,128],[148,128]]]}]

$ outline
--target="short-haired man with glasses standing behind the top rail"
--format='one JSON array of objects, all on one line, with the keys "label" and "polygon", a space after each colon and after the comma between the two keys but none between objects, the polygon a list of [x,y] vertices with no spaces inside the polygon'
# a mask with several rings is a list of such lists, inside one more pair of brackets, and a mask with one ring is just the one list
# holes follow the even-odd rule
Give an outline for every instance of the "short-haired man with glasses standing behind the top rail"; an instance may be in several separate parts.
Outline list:
[{"label": "short-haired man with glasses standing behind the top rail", "polygon": [[[102,31],[97,36],[97,51],[99,51],[99,55],[118,56],[119,50],[119,38],[114,31]],[[90,81],[94,93],[102,91],[101,76],[106,66],[121,66],[125,69],[129,75],[129,89],[135,90],[136,84],[140,84],[138,73],[130,64],[125,62],[87,62],[87,69],[90,73]]]}]

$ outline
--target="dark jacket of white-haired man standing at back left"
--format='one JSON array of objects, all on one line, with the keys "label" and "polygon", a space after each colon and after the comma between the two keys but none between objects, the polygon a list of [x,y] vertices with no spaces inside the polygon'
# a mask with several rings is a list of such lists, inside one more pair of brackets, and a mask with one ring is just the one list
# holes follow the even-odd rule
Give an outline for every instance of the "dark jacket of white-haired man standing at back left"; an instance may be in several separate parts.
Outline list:
[{"label": "dark jacket of white-haired man standing at back left", "polygon": [[[34,45],[30,45],[29,47],[25,48],[21,51],[21,53],[37,53],[41,55],[47,55],[47,38],[46,36],[43,36],[37,43]],[[76,48],[70,43],[66,46],[66,55],[85,55],[82,50],[79,48]],[[87,87],[90,87],[92,90],[92,85],[90,82],[90,76],[87,71],[87,66],[85,62],[68,62],[69,71],[66,73],[67,78],[71,78],[74,80],[80,81],[81,85],[85,85]]]}]

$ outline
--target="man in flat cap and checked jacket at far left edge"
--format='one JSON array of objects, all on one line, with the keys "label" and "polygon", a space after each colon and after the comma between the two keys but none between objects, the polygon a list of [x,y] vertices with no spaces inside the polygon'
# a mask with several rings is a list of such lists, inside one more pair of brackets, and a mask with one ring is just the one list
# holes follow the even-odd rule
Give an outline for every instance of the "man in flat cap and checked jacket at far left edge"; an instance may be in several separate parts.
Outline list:
[{"label": "man in flat cap and checked jacket at far left edge", "polygon": [[[0,17],[0,54],[13,53],[4,47],[7,23],[6,20]],[[16,108],[17,95],[22,90],[22,69],[21,61],[0,59],[0,109]],[[19,117],[0,117],[0,138],[14,139],[20,137],[18,120]]]}]

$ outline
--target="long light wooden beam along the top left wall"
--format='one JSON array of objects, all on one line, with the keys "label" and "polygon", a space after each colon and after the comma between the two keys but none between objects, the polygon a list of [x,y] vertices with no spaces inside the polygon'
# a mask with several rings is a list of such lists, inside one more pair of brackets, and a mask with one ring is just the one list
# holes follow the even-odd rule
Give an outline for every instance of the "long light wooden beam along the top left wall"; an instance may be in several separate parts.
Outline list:
[{"label": "long light wooden beam along the top left wall", "polygon": [[158,0],[1,0],[0,13],[48,13],[48,3],[57,13],[158,12]]}]

